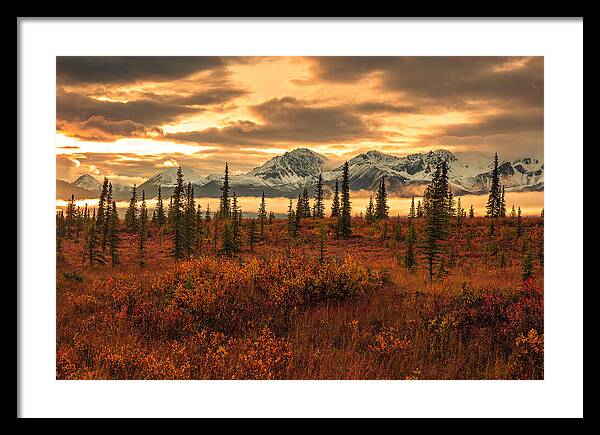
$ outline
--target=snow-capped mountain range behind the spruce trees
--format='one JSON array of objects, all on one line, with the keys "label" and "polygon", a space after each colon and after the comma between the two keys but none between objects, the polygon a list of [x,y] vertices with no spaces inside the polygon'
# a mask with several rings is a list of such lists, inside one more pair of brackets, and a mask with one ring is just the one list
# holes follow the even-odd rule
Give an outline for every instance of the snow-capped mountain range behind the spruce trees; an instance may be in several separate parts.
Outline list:
[{"label": "snow-capped mountain range behind the spruce trees", "polygon": [[[410,196],[422,189],[431,180],[436,164],[446,160],[450,168],[450,183],[458,195],[484,193],[489,190],[493,159],[453,154],[446,150],[410,154],[397,157],[379,151],[368,151],[348,160],[351,190],[374,191],[379,180],[386,177],[390,193]],[[238,196],[295,196],[304,187],[311,189],[319,174],[326,189],[331,189],[335,180],[341,181],[343,166],[330,168],[328,159],[307,148],[298,148],[274,157],[263,165],[243,175],[230,175],[232,191]],[[543,190],[544,163],[537,158],[523,157],[512,161],[501,161],[501,181],[507,191]],[[217,197],[221,194],[223,174],[199,175],[194,169],[182,168],[184,182],[191,182],[197,197]],[[163,196],[172,193],[176,183],[177,168],[165,169],[138,186],[146,197],[156,196],[161,186]],[[66,183],[62,180],[61,183]],[[91,175],[82,175],[73,183],[77,189],[100,192],[102,185]],[[57,184],[58,186],[58,184]],[[415,190],[416,189],[416,190]],[[116,199],[130,195],[131,187],[113,184]],[[78,192],[79,196],[81,192]],[[91,197],[95,197],[93,195]]]}]

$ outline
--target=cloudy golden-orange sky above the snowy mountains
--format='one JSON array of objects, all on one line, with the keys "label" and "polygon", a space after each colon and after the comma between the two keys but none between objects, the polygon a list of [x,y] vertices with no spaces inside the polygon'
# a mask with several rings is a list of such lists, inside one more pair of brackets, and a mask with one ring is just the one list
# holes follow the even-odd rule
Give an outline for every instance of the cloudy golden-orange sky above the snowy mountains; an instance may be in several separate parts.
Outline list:
[{"label": "cloudy golden-orange sky above the snowy mountains", "polygon": [[59,57],[57,178],[430,149],[543,157],[541,57]]}]

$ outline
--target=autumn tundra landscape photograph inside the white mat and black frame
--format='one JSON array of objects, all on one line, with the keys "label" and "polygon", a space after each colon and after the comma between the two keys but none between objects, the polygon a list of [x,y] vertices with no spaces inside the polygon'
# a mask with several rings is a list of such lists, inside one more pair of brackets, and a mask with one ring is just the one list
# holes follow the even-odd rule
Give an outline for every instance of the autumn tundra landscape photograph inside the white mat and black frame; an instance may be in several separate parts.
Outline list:
[{"label": "autumn tundra landscape photograph inside the white mat and black frame", "polygon": [[543,56],[58,56],[55,148],[57,380],[544,379]]}]

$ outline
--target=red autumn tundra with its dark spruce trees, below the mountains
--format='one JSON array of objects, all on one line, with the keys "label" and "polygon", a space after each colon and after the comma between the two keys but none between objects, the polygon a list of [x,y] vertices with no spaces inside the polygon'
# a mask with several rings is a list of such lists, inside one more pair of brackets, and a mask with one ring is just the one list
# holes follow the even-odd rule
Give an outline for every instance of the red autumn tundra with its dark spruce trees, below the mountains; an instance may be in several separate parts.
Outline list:
[{"label": "red autumn tundra with its dark spruce trees, below the mountains", "polygon": [[181,168],[150,212],[56,214],[57,379],[543,379],[544,216],[508,206],[494,161],[486,213],[441,161],[391,216],[385,177],[352,208],[348,165],[276,217],[244,217],[225,166],[203,208]]}]

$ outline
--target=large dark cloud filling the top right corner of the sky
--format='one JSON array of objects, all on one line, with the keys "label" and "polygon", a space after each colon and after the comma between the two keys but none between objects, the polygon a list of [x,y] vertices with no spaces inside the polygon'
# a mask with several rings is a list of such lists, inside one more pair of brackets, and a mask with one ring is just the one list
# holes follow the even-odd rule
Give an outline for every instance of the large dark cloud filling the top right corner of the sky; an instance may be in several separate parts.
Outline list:
[{"label": "large dark cloud filling the top right corner of the sky", "polygon": [[[543,57],[317,57],[313,60],[315,74],[324,80],[354,81],[370,73],[380,73],[385,90],[434,99],[439,105],[469,99],[543,105]],[[514,62],[522,65],[510,68]]]}]

